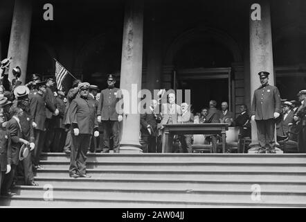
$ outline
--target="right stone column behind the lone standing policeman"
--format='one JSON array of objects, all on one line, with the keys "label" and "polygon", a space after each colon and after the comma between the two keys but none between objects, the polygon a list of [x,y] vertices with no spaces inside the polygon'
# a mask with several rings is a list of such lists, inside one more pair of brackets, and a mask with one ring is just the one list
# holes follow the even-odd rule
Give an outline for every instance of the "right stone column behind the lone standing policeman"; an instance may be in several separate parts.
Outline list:
[{"label": "right stone column behind the lone standing policeman", "polygon": [[[273,51],[271,34],[271,17],[269,1],[258,1],[260,4],[261,18],[253,20],[251,13],[250,21],[250,80],[251,80],[251,103],[255,89],[260,87],[258,72],[269,71],[269,84],[274,85]],[[251,6],[250,6],[251,8]],[[253,10],[251,10],[252,12]],[[251,121],[252,142],[250,151],[259,147],[256,123]]]}]

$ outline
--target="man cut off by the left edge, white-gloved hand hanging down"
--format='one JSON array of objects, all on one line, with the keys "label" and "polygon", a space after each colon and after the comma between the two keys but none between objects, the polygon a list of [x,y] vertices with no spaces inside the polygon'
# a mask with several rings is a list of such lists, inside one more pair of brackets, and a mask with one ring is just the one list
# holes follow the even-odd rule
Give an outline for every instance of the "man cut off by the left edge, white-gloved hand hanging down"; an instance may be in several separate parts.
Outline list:
[{"label": "man cut off by the left edge, white-gloved hand hanging down", "polygon": [[[0,108],[3,108],[3,105],[8,103],[8,99],[3,97],[0,99]],[[2,123],[5,122],[3,113],[0,113],[0,191],[3,184],[4,177],[7,173],[10,173],[10,166],[12,164],[12,149],[10,146],[11,139],[10,133],[6,127],[2,126]]]}]

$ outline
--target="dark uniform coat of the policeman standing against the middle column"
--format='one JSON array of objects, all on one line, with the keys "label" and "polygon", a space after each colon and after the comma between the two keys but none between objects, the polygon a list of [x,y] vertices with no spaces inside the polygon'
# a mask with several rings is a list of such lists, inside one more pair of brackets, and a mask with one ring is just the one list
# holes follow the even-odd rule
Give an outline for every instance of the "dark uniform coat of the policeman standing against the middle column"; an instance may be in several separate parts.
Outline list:
[{"label": "dark uniform coat of the policeman standing against the middle column", "polygon": [[[112,89],[103,89],[100,93],[97,114],[101,116],[101,120],[118,121],[118,113],[116,112],[116,104],[120,101],[120,89],[114,87]],[[119,110],[121,112],[121,109]]]}]

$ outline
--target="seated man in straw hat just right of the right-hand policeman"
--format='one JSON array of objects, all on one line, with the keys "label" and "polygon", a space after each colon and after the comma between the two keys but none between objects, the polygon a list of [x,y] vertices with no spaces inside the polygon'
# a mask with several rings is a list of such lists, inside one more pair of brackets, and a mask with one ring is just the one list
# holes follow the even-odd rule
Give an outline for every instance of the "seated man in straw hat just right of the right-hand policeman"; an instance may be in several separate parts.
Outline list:
[{"label": "seated man in straw hat just right of the right-hand policeman", "polygon": [[289,127],[294,122],[294,112],[292,110],[293,105],[289,101],[283,103],[283,112],[280,115],[280,121],[276,125],[276,133],[278,136],[286,136],[289,131]]}]

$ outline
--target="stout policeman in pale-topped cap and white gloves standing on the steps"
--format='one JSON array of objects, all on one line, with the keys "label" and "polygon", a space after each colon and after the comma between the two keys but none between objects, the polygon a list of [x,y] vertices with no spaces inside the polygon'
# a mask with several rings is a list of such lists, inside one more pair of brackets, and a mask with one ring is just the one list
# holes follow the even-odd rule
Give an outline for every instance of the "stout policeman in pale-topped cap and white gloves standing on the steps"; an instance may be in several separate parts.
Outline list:
[{"label": "stout policeman in pale-topped cap and white gloves standing on the steps", "polygon": [[99,136],[96,105],[89,99],[89,83],[80,83],[80,96],[71,101],[71,155],[69,176],[71,178],[89,178],[86,173],[86,155],[91,135]]}]

